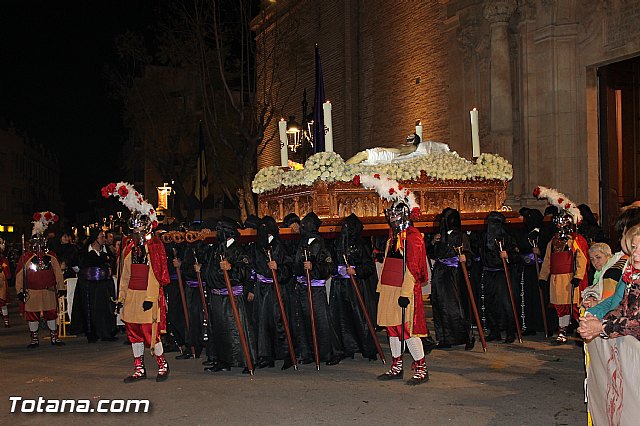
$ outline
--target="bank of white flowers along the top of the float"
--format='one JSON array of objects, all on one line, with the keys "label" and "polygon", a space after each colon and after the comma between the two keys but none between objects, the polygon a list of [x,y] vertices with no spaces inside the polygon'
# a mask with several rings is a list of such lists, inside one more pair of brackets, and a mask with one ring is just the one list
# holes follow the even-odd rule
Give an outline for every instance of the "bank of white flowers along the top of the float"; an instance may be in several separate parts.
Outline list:
[{"label": "bank of white flowers along the top of the float", "polygon": [[319,152],[309,157],[302,170],[284,171],[281,167],[265,167],[253,180],[253,192],[262,194],[280,186],[313,185],[325,182],[349,182],[356,175],[380,174],[393,180],[415,180],[424,174],[436,180],[511,180],[513,167],[495,154],[482,154],[475,162],[457,152],[436,152],[410,160],[385,164],[345,164],[335,152]]}]

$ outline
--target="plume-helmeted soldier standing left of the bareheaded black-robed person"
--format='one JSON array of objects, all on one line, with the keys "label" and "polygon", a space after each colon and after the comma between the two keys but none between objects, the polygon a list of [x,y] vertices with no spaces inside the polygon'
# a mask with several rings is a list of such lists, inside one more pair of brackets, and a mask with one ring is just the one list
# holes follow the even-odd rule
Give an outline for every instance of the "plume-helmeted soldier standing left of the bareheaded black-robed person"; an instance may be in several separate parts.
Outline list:
[{"label": "plume-helmeted soldier standing left of the bareheaded black-robed person", "polygon": [[40,345],[38,327],[40,317],[47,322],[51,333],[51,344],[63,346],[58,338],[58,297],[64,293],[64,278],[56,255],[47,249],[44,232],[58,221],[58,216],[49,211],[33,215],[33,231],[30,248],[26,250],[16,267],[16,291],[18,300],[24,303],[24,315],[31,333],[28,348]]}]

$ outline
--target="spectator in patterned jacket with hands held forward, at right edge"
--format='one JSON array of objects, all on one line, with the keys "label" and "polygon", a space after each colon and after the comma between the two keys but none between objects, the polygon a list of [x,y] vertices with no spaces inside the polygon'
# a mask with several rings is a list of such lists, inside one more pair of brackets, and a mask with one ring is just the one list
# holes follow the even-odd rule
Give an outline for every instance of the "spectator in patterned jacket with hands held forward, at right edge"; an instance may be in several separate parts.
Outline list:
[{"label": "spectator in patterned jacket with hands held forward, at right edge", "polygon": [[624,240],[630,258],[622,273],[622,301],[603,320],[592,315],[580,318],[578,332],[584,339],[598,335],[605,338],[629,335],[640,339],[640,225],[628,229]]}]

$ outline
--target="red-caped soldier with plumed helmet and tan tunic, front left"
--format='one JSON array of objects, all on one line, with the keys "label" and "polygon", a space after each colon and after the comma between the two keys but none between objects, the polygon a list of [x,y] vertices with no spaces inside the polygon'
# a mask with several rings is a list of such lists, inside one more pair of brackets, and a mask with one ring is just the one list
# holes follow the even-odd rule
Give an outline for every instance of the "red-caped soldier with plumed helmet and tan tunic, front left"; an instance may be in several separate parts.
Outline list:
[{"label": "red-caped soldier with plumed helmet and tan tunic, front left", "polygon": [[169,377],[169,364],[164,356],[160,334],[166,332],[166,304],[163,287],[169,284],[167,255],[164,245],[153,234],[158,226],[156,212],[142,194],[126,182],[110,183],[102,188],[105,198],[118,197],[131,210],[129,227],[132,234],[123,241],[118,259],[120,291],[118,307],[126,325],[134,358],[133,374],[125,383],[147,377],[144,348],[150,349],[158,364],[157,382]]}]

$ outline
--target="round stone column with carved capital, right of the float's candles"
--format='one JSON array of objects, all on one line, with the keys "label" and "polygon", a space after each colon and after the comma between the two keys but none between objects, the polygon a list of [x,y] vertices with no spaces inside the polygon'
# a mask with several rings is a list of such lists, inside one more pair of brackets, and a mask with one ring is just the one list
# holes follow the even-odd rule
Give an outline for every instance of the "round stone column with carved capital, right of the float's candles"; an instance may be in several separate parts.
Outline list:
[{"label": "round stone column with carved capital, right of the float's candles", "polygon": [[484,17],[491,25],[491,141],[513,163],[513,96],[507,26],[515,0],[485,2]]}]

